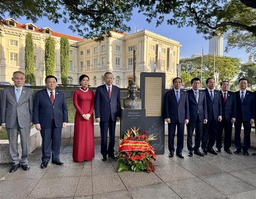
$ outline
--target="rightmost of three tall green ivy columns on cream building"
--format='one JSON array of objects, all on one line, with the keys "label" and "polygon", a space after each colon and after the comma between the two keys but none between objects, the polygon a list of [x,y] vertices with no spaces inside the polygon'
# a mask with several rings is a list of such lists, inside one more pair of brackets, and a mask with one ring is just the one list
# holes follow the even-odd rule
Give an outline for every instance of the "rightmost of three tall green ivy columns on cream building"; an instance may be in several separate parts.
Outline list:
[{"label": "rightmost of three tall green ivy columns on cream building", "polygon": [[67,84],[69,77],[69,40],[64,36],[60,38],[60,69],[61,83]]}]

